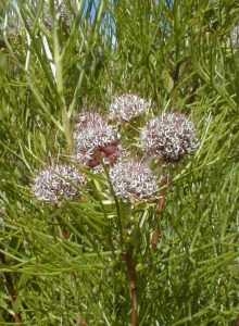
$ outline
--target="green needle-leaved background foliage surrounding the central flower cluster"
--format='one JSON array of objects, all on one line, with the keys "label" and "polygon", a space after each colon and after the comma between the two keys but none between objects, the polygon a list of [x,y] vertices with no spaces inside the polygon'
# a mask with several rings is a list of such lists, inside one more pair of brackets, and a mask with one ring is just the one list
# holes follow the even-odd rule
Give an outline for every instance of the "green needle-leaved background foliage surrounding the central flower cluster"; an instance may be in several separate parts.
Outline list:
[{"label": "green needle-leaved background foliage surrounding the central flower cluster", "polygon": [[72,153],[78,112],[106,115],[114,96],[136,92],[155,116],[187,114],[200,140],[196,155],[158,168],[159,183],[171,168],[160,215],[155,202],[135,209],[138,325],[236,325],[238,1],[0,4],[0,324],[130,324],[105,180],[90,175],[83,200],[58,208],[30,189],[39,170]]}]

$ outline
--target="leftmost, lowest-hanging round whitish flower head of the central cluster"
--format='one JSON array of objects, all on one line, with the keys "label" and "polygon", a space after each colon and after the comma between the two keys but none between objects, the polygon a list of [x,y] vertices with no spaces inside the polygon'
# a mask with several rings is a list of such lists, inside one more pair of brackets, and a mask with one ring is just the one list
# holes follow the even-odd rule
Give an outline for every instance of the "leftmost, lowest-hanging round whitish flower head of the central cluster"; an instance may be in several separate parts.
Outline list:
[{"label": "leftmost, lowest-hanging round whitish flower head of the central cluster", "polygon": [[[59,203],[62,198],[74,199],[80,197],[85,177],[70,164],[55,164],[41,171],[34,180],[33,192],[39,201]],[[76,186],[75,186],[76,185]]]}]

